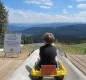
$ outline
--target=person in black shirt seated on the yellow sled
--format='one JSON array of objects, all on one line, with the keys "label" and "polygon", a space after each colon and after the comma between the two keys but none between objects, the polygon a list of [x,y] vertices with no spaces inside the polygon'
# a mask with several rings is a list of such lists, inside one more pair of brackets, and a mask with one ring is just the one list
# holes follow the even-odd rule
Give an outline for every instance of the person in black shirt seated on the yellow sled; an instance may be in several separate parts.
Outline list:
[{"label": "person in black shirt seated on the yellow sled", "polygon": [[39,50],[39,68],[41,68],[41,65],[56,65],[57,67],[57,50],[54,46],[54,35],[52,33],[45,33],[43,40],[44,45]]}]

